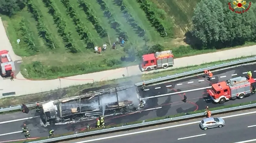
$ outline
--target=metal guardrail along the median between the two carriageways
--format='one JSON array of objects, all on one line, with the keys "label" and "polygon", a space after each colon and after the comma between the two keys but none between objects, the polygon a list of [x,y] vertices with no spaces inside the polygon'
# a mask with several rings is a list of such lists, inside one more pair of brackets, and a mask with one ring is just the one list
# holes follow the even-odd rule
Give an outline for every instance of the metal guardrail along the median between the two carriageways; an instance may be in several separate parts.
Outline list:
[{"label": "metal guardrail along the median between the two carriageways", "polygon": [[[212,112],[212,114],[217,114],[217,113],[224,113],[224,112],[230,112],[230,111],[236,111],[236,110],[254,108],[254,107],[256,107],[256,103],[249,104],[249,105],[242,105],[242,106],[232,107],[232,108],[214,110],[214,111],[211,111],[211,112]],[[186,119],[190,119],[190,118],[197,118],[197,117],[202,117],[204,115],[205,115],[205,113],[202,112],[202,113],[185,115],[185,116],[180,116],[180,117],[166,118],[166,119],[157,120],[157,121],[149,121],[149,122],[144,122],[144,123],[139,123],[139,124],[125,125],[125,126],[122,126],[122,127],[102,129],[102,130],[98,130],[98,131],[89,131],[89,132],[86,132],[86,133],[66,135],[66,136],[62,136],[62,137],[50,138],[50,139],[39,140],[39,141],[31,141],[29,143],[57,142],[57,141],[62,141],[62,140],[67,140],[67,139],[74,139],[74,138],[87,137],[87,136],[91,136],[91,135],[104,134],[104,133],[113,132],[113,131],[129,130],[129,129],[141,128],[141,127],[145,127],[145,126],[152,126],[152,125],[156,125],[156,124],[163,124],[163,123],[168,123],[168,122],[171,122],[171,121],[180,121],[180,120],[186,120]]]}]

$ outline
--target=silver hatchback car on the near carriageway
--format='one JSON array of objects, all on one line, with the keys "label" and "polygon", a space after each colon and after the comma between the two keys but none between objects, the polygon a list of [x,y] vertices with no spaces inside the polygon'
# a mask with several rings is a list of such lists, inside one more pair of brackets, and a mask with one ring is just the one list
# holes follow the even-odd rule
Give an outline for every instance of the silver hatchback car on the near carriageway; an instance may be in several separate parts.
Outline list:
[{"label": "silver hatchback car on the near carriageway", "polygon": [[200,123],[200,128],[207,130],[208,128],[221,128],[225,126],[225,121],[222,118],[205,118]]}]

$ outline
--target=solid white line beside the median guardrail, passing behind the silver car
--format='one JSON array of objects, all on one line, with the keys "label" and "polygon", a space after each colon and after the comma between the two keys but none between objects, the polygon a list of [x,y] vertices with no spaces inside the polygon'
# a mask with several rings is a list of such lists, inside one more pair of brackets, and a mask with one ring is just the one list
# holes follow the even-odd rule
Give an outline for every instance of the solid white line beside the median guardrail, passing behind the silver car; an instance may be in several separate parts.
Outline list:
[{"label": "solid white line beside the median guardrail, passing behind the silver car", "polygon": [[[230,115],[230,116],[225,116],[225,117],[221,117],[221,118],[232,118],[232,117],[255,114],[255,113],[256,113],[256,111],[243,113],[243,114]],[[154,128],[154,129],[150,129],[150,130],[136,131],[136,132],[126,133],[126,134],[121,134],[121,135],[108,136],[108,137],[104,137],[104,138],[95,138],[95,139],[86,140],[86,141],[79,141],[79,142],[75,142],[75,143],[86,143],[86,142],[100,141],[100,140],[105,140],[105,139],[110,139],[110,138],[118,138],[118,137],[123,137],[123,136],[128,136],[128,135],[136,135],[136,134],[141,134],[141,133],[146,133],[146,132],[151,132],[151,131],[165,130],[165,129],[168,129],[168,128],[176,128],[176,127],[181,127],[181,126],[186,126],[186,125],[198,124],[200,122],[201,121],[195,121],[195,122],[173,125],[173,126],[167,126],[167,127],[162,127],[162,128]],[[103,130],[105,130],[105,129],[103,129]],[[255,141],[256,141],[256,139],[255,139]],[[237,143],[246,143],[246,142],[237,142]]]}]

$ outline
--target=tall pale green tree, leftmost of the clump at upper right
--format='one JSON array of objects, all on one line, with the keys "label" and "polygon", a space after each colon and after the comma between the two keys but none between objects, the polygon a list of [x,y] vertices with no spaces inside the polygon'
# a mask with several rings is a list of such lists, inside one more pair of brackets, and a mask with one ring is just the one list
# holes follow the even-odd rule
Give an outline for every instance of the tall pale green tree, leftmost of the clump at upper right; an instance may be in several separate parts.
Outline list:
[{"label": "tall pale green tree, leftmost of the clump at upper right", "polygon": [[227,32],[224,25],[226,15],[219,0],[201,0],[194,10],[192,35],[201,40],[201,48],[219,47],[226,41]]}]

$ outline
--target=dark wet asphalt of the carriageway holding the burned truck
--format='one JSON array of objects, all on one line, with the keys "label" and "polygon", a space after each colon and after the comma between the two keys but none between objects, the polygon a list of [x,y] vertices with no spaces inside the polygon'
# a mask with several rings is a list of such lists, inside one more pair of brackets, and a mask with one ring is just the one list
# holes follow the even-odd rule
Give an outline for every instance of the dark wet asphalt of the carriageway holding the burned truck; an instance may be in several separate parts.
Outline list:
[{"label": "dark wet asphalt of the carriageway holding the burned truck", "polygon": [[[213,79],[211,83],[217,83],[218,81],[225,81],[229,78],[233,78],[237,76],[246,76],[246,74],[243,74],[243,73],[249,70],[252,71],[253,76],[256,74],[255,65],[244,65],[236,68],[230,68],[222,71],[213,72],[214,74],[213,77],[215,79]],[[182,112],[201,110],[201,109],[204,109],[205,106],[209,106],[210,108],[222,106],[220,104],[213,104],[212,101],[209,99],[208,95],[206,94],[205,89],[186,92],[186,95],[188,98],[187,99],[188,101],[186,103],[181,101],[183,99],[183,94],[174,94],[169,96],[151,98],[155,95],[162,95],[167,93],[174,93],[177,91],[186,91],[186,90],[211,86],[211,83],[205,81],[205,79],[204,81],[200,81],[200,80],[203,80],[203,78],[201,78],[201,76],[196,76],[193,78],[187,78],[187,79],[173,81],[165,84],[147,86],[146,89],[149,89],[149,90],[140,91],[140,95],[143,98],[149,98],[149,99],[145,99],[146,106],[144,108],[144,109],[148,109],[149,111],[141,111],[133,114],[106,117],[105,118],[106,124],[107,125],[120,124],[120,123],[127,123],[131,121],[145,120],[149,118],[163,117],[166,115],[175,115],[177,113],[182,113]],[[172,86],[166,87],[168,85],[172,85]],[[155,89],[158,87],[161,87],[161,88]],[[243,102],[248,102],[253,100],[256,100],[255,95],[252,95],[250,97],[247,97],[241,100],[236,99],[235,101],[228,101],[223,105],[231,105],[231,104],[243,103]],[[56,134],[62,134],[66,132],[75,132],[80,130],[81,128],[85,128],[87,123],[92,126],[94,126],[95,124],[94,123],[95,121],[93,120],[93,121],[81,122],[77,124],[56,125],[56,126],[45,128],[40,124],[39,118],[1,124],[1,122],[7,121],[7,120],[15,120],[15,119],[37,116],[35,111],[30,111],[30,112],[31,112],[30,115],[23,114],[23,113],[12,113],[12,114],[0,115],[0,128],[2,129],[0,130],[0,141],[24,138],[24,136],[21,135],[21,133],[3,135],[6,133],[21,131],[21,126],[23,123],[26,123],[27,126],[30,128],[31,137],[47,136],[48,131],[52,128],[56,129]]]}]

